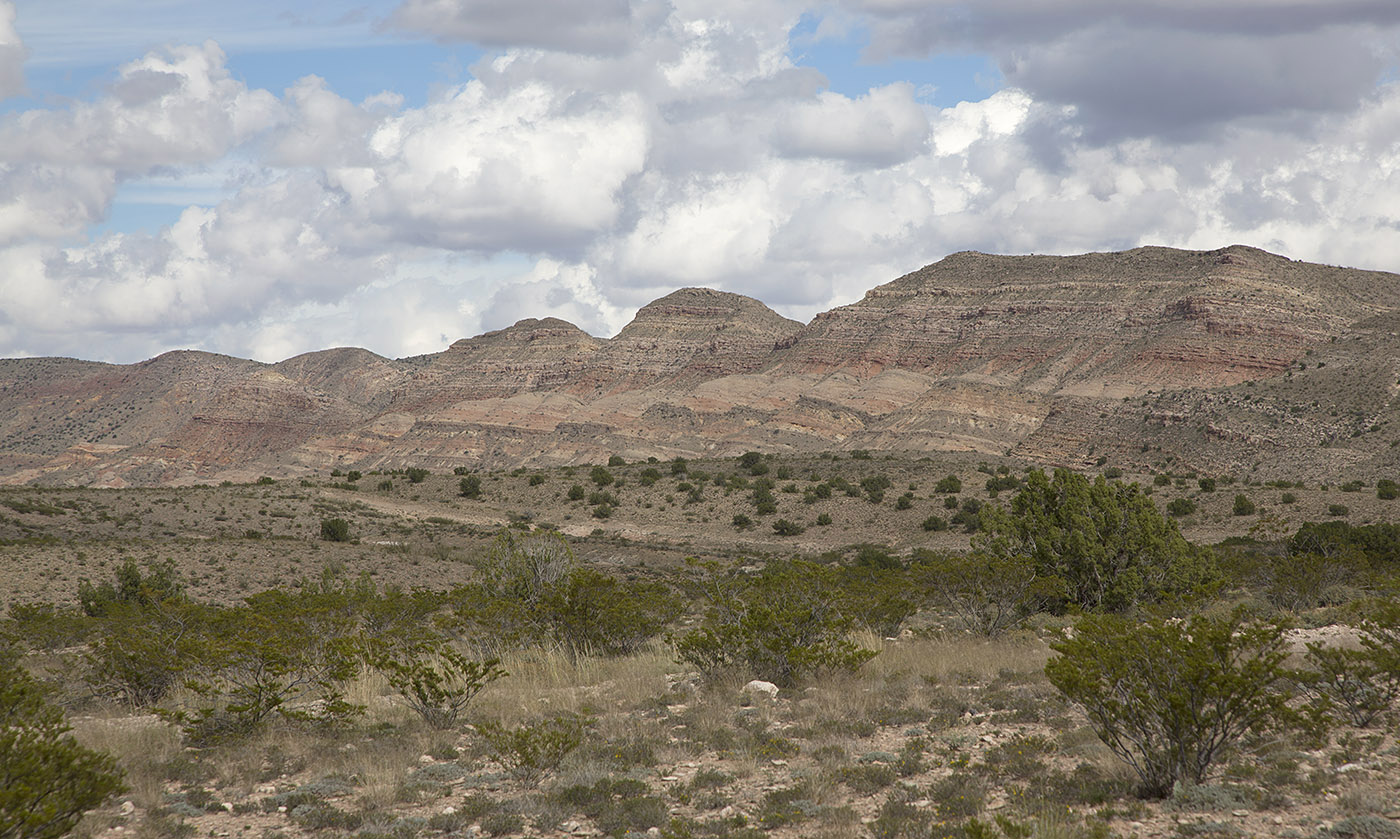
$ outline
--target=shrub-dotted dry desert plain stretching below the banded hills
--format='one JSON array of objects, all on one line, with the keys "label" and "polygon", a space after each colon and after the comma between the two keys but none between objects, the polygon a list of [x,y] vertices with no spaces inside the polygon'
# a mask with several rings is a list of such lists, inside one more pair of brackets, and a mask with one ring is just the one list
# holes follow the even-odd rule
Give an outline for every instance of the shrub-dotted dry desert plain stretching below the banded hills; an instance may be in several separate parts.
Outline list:
[{"label": "shrub-dotted dry desert plain stretching below the banded hills", "polygon": [[0,829],[73,777],[108,838],[1396,835],[1397,494],[867,451],[4,490]]}]

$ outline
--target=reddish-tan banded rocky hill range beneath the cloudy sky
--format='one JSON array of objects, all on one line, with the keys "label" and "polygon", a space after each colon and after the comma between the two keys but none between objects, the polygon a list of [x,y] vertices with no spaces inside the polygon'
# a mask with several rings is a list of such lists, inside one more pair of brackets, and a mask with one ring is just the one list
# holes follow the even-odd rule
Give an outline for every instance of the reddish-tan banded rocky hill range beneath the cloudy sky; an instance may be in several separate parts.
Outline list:
[{"label": "reddish-tan banded rocky hill range beneath the cloudy sky", "polygon": [[[1264,251],[955,254],[788,321],[683,289],[391,360],[0,360],[0,480],[245,480],[745,450],[1011,454],[1337,480],[1400,471],[1400,276]],[[917,454],[916,454],[917,457]]]}]

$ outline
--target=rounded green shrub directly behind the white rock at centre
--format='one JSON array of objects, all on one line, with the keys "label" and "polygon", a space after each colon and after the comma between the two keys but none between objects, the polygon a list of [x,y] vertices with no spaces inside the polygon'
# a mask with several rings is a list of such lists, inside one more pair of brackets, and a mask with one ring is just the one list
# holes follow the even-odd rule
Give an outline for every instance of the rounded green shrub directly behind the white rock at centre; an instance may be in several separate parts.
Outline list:
[{"label": "rounded green shrub directly behind the white rock at centre", "polygon": [[792,685],[823,670],[857,670],[875,656],[847,639],[854,619],[840,611],[834,570],[787,560],[753,577],[713,564],[707,571],[697,592],[707,604],[703,622],[672,637],[676,657],[701,672],[738,667]]}]

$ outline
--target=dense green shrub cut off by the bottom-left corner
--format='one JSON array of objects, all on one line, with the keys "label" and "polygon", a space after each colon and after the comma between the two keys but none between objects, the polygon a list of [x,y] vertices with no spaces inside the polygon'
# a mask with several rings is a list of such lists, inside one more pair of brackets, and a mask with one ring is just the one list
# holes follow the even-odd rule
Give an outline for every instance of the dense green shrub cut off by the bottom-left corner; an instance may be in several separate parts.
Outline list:
[{"label": "dense green shrub cut off by the bottom-left corner", "polygon": [[0,838],[57,839],[122,789],[116,761],[78,745],[43,686],[0,649]]}]

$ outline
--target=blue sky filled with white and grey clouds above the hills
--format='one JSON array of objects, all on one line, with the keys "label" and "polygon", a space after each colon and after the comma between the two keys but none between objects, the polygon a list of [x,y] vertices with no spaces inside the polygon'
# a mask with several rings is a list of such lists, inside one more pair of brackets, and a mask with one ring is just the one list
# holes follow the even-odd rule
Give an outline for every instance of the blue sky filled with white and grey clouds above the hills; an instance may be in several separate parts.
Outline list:
[{"label": "blue sky filled with white and grey clouds above the hills", "polygon": [[806,321],[956,251],[1400,272],[1397,67],[1394,0],[0,0],[0,357]]}]

